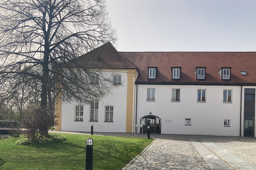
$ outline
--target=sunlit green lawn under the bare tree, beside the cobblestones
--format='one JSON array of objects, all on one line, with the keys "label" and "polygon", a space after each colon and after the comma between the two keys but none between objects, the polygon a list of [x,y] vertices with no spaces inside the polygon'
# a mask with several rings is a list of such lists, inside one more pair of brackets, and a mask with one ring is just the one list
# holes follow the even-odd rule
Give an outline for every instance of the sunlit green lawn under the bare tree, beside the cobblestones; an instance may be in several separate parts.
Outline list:
[{"label": "sunlit green lawn under the bare tree, beside the cobblestones", "polygon": [[15,145],[20,138],[0,140],[0,169],[85,169],[86,139],[93,139],[93,169],[121,169],[153,141],[147,138],[60,134],[67,141]]}]

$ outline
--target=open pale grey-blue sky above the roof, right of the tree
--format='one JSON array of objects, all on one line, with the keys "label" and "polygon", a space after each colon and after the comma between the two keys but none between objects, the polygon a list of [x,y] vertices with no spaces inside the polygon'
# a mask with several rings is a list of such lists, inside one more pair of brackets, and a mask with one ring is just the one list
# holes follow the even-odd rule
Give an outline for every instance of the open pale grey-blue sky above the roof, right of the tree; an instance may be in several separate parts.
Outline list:
[{"label": "open pale grey-blue sky above the roof, right of the tree", "polygon": [[256,51],[255,0],[106,0],[118,51]]}]

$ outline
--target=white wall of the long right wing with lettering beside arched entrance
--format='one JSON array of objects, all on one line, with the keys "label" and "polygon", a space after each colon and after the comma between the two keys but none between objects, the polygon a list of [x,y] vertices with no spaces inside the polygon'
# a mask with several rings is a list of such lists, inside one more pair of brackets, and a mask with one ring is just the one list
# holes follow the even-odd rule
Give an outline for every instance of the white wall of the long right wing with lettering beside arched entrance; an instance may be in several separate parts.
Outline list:
[{"label": "white wall of the long right wing with lettering beside arched entrance", "polygon": [[[155,88],[155,101],[146,101],[147,88]],[[180,89],[180,102],[171,101],[172,89]],[[206,89],[206,102],[197,102],[198,89]],[[223,102],[227,89],[232,90],[232,103]],[[241,86],[138,85],[137,124],[151,112],[162,120],[162,134],[239,136],[240,98]],[[185,125],[186,118],[191,125]]]}]

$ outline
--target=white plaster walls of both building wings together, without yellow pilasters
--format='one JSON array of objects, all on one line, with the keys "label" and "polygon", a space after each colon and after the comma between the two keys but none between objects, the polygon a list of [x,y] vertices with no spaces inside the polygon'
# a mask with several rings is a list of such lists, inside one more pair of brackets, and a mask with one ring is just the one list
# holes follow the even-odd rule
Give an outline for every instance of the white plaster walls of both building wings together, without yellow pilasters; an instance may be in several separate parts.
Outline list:
[{"label": "white plaster walls of both building wings together, without yellow pilasters", "polygon": [[[99,101],[98,121],[90,121],[90,105],[82,104],[83,121],[75,121],[75,106],[79,103],[62,103],[62,131],[90,132],[93,124],[94,132],[126,132],[127,73],[124,71],[117,74],[122,76],[123,85],[113,88],[112,95]],[[148,88],[155,89],[154,101],[146,100]],[[241,97],[241,86],[138,85],[137,122],[135,122],[135,86],[133,132],[135,124],[140,124],[140,119],[151,113],[161,119],[162,134],[239,136],[241,114],[241,136],[243,136],[244,88],[255,89],[256,86],[242,86]],[[180,89],[180,101],[171,101],[172,89]],[[206,90],[206,102],[197,101],[198,89]],[[223,90],[232,90],[232,102],[223,102]],[[113,106],[113,122],[104,121],[105,106]],[[191,125],[185,125],[185,119],[191,119]],[[229,120],[229,126],[224,125],[224,120]],[[140,129],[137,132],[140,133]]]}]

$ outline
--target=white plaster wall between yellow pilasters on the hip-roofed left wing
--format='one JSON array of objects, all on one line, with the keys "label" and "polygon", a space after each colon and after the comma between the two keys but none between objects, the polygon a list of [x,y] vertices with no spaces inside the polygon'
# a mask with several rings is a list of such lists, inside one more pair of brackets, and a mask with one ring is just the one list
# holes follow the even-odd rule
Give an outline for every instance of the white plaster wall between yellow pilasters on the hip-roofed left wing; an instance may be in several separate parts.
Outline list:
[{"label": "white plaster wall between yellow pilasters on the hip-roofed left wing", "polygon": [[[121,75],[122,85],[115,85],[111,95],[99,101],[98,121],[90,121],[90,105],[62,103],[62,131],[90,132],[93,124],[94,132],[126,132],[127,71],[112,74]],[[75,121],[75,106],[78,104],[83,106],[83,121]],[[113,122],[105,122],[105,106],[113,106]]]}]

